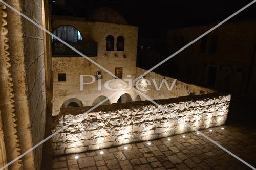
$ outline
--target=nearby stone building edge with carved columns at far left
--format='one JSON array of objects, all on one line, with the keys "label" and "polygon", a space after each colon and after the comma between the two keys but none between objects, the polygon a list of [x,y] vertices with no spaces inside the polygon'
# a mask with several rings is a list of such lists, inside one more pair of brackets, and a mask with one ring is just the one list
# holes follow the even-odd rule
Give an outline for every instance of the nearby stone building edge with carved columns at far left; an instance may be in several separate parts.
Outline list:
[{"label": "nearby stone building edge with carved columns at far left", "polygon": [[[6,3],[50,28],[48,1]],[[51,133],[51,39],[27,19],[0,3],[0,166],[31,149]],[[46,142],[44,147],[49,143]],[[51,150],[43,145],[8,169],[42,169]],[[44,159],[42,159],[44,157]],[[42,162],[42,163],[41,163]]]}]

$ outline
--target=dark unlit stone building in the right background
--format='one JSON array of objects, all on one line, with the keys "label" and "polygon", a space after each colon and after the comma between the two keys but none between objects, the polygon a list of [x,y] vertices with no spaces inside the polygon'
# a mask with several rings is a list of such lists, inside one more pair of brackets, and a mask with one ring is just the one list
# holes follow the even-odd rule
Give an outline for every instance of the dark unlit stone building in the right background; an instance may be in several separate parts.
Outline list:
[{"label": "dark unlit stone building in the right background", "polygon": [[[169,52],[176,52],[213,26],[169,29]],[[255,29],[254,20],[226,23],[171,60],[179,76],[191,82],[255,98]]]}]

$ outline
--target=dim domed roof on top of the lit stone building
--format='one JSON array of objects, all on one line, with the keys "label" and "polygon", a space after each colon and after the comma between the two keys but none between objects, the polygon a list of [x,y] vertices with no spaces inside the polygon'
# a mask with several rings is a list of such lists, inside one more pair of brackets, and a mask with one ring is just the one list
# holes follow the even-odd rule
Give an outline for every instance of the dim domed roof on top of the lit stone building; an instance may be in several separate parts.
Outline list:
[{"label": "dim domed roof on top of the lit stone building", "polygon": [[120,13],[106,7],[96,9],[93,14],[88,17],[88,20],[108,23],[121,23],[127,25],[127,21],[122,17]]}]

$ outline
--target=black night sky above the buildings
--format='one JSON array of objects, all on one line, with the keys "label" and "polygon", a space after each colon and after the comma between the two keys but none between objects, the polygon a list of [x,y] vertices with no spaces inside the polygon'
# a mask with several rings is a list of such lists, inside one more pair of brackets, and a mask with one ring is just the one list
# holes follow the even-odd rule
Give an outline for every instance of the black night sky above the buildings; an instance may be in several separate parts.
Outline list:
[{"label": "black night sky above the buildings", "polygon": [[[99,7],[118,11],[129,25],[139,27],[139,37],[164,37],[167,28],[217,23],[251,1],[168,0],[168,1],[86,1],[57,0],[52,14],[87,16]],[[62,4],[62,5],[61,5]],[[71,12],[70,12],[71,11]],[[256,18],[256,3],[232,20]]]}]

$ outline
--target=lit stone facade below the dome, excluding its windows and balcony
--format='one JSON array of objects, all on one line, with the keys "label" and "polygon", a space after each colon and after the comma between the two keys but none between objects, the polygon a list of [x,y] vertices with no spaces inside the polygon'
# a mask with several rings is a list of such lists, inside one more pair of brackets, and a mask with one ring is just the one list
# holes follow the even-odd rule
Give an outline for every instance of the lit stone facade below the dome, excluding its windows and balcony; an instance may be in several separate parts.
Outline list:
[{"label": "lit stone facade below the dome, excluding its windows and balcony", "polygon": [[[138,28],[129,25],[122,25],[117,23],[106,23],[98,21],[86,21],[79,17],[60,17],[52,18],[53,30],[61,25],[70,25],[79,30],[82,35],[82,41],[95,41],[98,44],[97,56],[90,57],[93,61],[100,64],[102,67],[108,69],[115,74],[115,67],[122,67],[122,78],[126,79],[127,75],[131,75],[134,79],[136,75],[136,55],[137,55],[137,36]],[[106,51],[106,37],[108,35],[114,36],[114,51]],[[124,37],[124,51],[117,51],[116,41],[118,36]],[[103,84],[111,79],[114,79],[107,72],[101,70],[87,59],[81,56],[62,55],[52,58],[54,71],[54,115],[57,115],[61,106],[65,101],[76,99],[82,102],[83,106],[90,106],[99,96],[109,96],[113,91],[105,89]],[[84,90],[80,91],[80,75],[95,76],[97,71],[101,71],[102,90],[98,91],[98,80],[93,84],[84,85]],[[59,82],[58,74],[66,74],[66,81]],[[85,79],[84,82],[90,82],[91,78]],[[113,82],[111,87],[116,87],[119,81]],[[119,88],[124,88],[125,85]],[[111,103],[117,102],[119,97],[127,93],[134,100],[133,90],[124,90],[110,98]],[[71,101],[72,102],[72,101]]]}]

